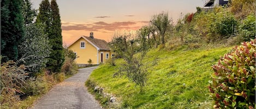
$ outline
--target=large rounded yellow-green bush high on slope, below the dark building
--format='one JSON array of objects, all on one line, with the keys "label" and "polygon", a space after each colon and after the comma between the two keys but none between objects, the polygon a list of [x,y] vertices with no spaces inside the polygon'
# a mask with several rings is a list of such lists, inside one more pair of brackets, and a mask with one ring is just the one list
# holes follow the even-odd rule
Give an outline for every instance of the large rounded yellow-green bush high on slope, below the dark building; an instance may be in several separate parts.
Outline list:
[{"label": "large rounded yellow-green bush high on slope, below the dark building", "polygon": [[213,11],[201,12],[193,17],[194,29],[207,42],[227,39],[234,35],[237,27],[235,16],[226,8],[215,8]]}]

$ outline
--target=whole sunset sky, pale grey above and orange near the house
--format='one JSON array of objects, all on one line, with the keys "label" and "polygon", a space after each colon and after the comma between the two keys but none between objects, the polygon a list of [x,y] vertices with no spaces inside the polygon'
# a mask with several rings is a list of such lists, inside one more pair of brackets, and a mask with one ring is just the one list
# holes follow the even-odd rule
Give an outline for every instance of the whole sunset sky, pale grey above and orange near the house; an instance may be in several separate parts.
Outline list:
[{"label": "whole sunset sky, pale grey above and orange near the house", "polygon": [[[51,1],[51,0],[49,0]],[[183,14],[196,12],[204,0],[56,0],[62,22],[63,43],[81,35],[111,41],[116,30],[135,31],[148,25],[153,15],[168,12],[174,22]],[[31,0],[39,9],[41,0]]]}]

